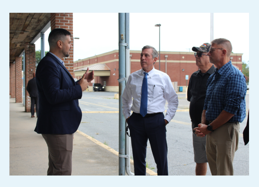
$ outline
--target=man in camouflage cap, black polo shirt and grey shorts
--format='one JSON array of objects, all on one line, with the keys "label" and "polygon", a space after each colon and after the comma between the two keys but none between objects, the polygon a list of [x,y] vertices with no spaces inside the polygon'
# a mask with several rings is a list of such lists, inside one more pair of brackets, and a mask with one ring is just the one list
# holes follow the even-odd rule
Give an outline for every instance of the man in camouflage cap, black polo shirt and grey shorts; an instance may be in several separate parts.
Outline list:
[{"label": "man in camouflage cap, black polo shirt and grey shorts", "polygon": [[[196,66],[199,70],[195,71],[189,81],[187,100],[190,101],[190,118],[192,129],[198,127],[201,123],[201,114],[203,112],[204,100],[206,97],[206,84],[209,76],[214,73],[215,67],[209,61],[207,55],[211,44],[204,43],[200,47],[193,47],[192,50],[196,59]],[[206,175],[207,157],[206,157],[206,136],[198,137],[193,130],[193,149],[194,161],[196,162],[196,175]]]}]

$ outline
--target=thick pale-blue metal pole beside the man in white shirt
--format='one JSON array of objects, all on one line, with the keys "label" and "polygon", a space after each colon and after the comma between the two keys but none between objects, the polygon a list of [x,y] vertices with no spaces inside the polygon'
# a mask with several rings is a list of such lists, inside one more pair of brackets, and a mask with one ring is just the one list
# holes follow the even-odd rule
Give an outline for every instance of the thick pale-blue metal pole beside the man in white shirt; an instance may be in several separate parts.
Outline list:
[{"label": "thick pale-blue metal pole beside the man in white shirt", "polygon": [[[125,13],[119,13],[119,80],[125,79]],[[126,79],[125,79],[126,80]],[[125,155],[125,119],[122,114],[122,93],[125,80],[119,81],[119,154]],[[119,175],[125,175],[125,158],[119,157]]]}]

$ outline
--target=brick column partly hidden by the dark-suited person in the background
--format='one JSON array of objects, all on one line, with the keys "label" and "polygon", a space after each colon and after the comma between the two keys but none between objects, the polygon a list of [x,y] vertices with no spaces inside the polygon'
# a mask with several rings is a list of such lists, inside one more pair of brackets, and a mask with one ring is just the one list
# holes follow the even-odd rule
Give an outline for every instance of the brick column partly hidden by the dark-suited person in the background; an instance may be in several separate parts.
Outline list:
[{"label": "brick column partly hidden by the dark-suited person in the background", "polygon": [[[26,43],[24,47],[25,51],[25,88],[28,81],[33,78],[33,73],[36,70],[36,58],[35,58],[35,44]],[[31,111],[31,98],[28,91],[25,89],[25,112]]]}]

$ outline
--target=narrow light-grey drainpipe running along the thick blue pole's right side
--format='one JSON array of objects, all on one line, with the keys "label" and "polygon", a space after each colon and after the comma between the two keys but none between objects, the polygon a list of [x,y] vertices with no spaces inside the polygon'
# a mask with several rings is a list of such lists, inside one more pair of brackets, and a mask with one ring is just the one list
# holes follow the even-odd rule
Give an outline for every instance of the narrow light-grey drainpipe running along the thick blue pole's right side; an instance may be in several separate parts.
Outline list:
[{"label": "narrow light-grey drainpipe running along the thick blue pole's right side", "polygon": [[[128,81],[129,75],[130,75],[130,56],[129,55],[129,13],[125,13],[125,43],[128,44],[126,46],[126,82]],[[125,129],[128,126],[127,123],[125,123]],[[134,175],[134,173],[132,173],[130,171],[130,138],[129,136],[125,135],[125,155],[127,155],[126,157],[126,173],[128,175]]]}]

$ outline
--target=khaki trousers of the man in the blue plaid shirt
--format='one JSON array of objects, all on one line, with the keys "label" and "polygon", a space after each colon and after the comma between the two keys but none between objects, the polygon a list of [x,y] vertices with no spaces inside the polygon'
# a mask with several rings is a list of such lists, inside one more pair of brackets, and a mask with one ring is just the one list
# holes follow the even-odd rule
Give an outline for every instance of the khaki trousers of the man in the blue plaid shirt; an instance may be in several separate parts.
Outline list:
[{"label": "khaki trousers of the man in the blue plaid shirt", "polygon": [[212,175],[234,175],[240,124],[225,123],[206,136],[206,155]]}]

